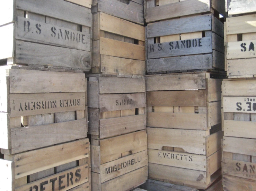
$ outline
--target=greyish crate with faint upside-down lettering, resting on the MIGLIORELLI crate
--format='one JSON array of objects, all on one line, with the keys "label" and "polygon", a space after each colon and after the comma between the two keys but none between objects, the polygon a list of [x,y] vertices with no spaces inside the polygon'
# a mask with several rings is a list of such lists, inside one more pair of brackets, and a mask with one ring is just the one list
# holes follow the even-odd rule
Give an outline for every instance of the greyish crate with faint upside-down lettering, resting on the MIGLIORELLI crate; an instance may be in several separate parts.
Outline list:
[{"label": "greyish crate with faint upside-down lettering, resting on the MIGLIORELLI crate", "polygon": [[146,128],[144,78],[89,77],[88,121],[92,139]]}]

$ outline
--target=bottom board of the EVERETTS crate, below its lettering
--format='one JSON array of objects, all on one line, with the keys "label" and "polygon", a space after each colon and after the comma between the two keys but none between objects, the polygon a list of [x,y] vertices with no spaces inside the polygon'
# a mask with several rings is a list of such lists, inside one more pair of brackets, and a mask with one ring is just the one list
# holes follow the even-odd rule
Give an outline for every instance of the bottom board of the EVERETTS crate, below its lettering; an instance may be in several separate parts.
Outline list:
[{"label": "bottom board of the EVERETTS crate, below its lettering", "polygon": [[[221,169],[217,170],[210,177],[206,177],[206,172],[189,170],[166,165],[149,163],[149,177],[169,183],[182,184],[188,187],[206,189],[221,176]],[[170,173],[171,172],[171,173]]]}]

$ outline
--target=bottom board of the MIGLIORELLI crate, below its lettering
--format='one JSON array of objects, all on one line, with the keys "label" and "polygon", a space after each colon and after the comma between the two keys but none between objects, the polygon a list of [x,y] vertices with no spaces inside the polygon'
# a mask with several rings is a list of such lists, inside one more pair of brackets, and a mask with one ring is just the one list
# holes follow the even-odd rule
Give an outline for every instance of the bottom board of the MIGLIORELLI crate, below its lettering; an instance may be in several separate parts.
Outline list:
[{"label": "bottom board of the MIGLIORELLI crate, below its lettering", "polygon": [[148,167],[144,166],[107,182],[100,183],[100,174],[91,172],[92,191],[127,191],[148,179]]}]

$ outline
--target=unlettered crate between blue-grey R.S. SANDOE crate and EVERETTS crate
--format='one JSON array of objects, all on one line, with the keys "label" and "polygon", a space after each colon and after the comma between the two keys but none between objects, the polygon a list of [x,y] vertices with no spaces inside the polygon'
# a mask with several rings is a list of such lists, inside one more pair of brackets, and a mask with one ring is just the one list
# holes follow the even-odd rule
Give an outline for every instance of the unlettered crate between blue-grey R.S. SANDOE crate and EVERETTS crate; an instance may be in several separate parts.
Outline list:
[{"label": "unlettered crate between blue-grey R.S. SANDOE crate and EVERETTS crate", "polygon": [[208,72],[145,77],[147,126],[209,130],[220,124],[222,79],[216,77]]}]

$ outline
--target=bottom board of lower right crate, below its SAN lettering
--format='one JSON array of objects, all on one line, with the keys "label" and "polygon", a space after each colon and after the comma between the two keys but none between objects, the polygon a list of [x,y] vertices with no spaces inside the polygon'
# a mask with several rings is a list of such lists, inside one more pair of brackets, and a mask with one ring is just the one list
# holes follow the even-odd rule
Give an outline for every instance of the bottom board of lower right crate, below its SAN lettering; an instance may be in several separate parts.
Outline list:
[{"label": "bottom board of lower right crate, below its SAN lettering", "polygon": [[224,191],[254,191],[256,190],[256,181],[232,177],[223,174],[222,184]]}]

